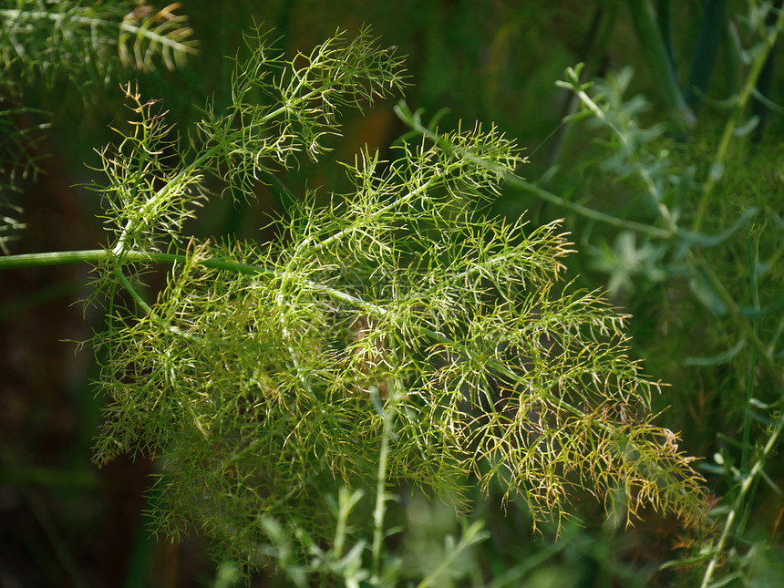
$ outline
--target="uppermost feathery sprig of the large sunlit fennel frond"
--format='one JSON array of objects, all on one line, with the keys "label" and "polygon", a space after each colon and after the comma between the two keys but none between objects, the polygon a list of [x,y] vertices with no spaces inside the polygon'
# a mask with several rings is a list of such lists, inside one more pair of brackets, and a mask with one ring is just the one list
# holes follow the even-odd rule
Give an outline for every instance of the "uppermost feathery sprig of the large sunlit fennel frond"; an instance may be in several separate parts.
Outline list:
[{"label": "uppermost feathery sprig of the large sunlit fennel frond", "polygon": [[286,60],[269,33],[246,38],[248,57],[235,60],[232,104],[222,114],[208,105],[199,124],[214,170],[237,193],[252,191],[280,167],[316,160],[338,136],[341,108],[362,110],[405,86],[395,47],[373,46],[369,30],[346,39],[340,31],[310,55]]}]

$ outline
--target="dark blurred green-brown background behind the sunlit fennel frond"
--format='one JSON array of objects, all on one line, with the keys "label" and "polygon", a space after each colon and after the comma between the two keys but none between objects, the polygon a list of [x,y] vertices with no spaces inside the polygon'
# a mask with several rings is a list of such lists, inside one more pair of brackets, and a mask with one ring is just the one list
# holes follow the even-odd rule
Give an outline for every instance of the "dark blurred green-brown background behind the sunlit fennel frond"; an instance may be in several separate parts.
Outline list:
[{"label": "dark blurred green-brown background behind the sunlit fennel frond", "polygon": [[[0,9],[34,4],[3,2]],[[116,67],[90,84],[37,77],[20,93],[4,90],[4,108],[25,108],[15,125],[34,129],[40,168],[10,197],[24,209],[26,229],[8,246],[26,253],[101,243],[98,198],[80,186],[92,178],[85,164],[97,162],[93,150],[112,139],[109,126],[125,119],[119,83],[138,79],[145,96],[163,100],[170,119],[188,123],[208,98],[217,107],[228,101],[232,61],[225,56],[240,49],[253,23],[273,28],[292,56],[337,28],[350,36],[372,26],[382,43],[407,56],[407,103],[424,108],[425,119],[447,108],[439,123],[445,129],[459,119],[495,122],[528,150],[531,163],[521,174],[532,184],[565,201],[655,226],[657,216],[641,198],[634,172],[614,160],[618,137],[590,122],[563,124],[563,117],[579,110],[578,101],[554,84],[566,67],[584,62],[582,80],[605,78],[606,98],[609,85],[618,82],[613,75],[630,67],[634,76],[622,80],[623,98],[613,111],[628,117],[624,132],[638,140],[634,153],[651,155],[645,166],[661,168],[667,205],[682,226],[716,234],[743,211],[760,212],[717,246],[700,249],[697,263],[672,240],[595,222],[513,186],[495,210],[512,218],[528,211],[535,223],[565,218],[579,251],[568,263],[571,277],[585,288],[608,289],[614,304],[633,315],[634,355],[645,360],[647,374],[671,384],[655,398],[655,409],[665,411],[659,424],[682,431],[681,449],[704,458],[719,505],[717,521],[723,524],[720,515],[740,505],[740,523],[729,533],[716,577],[725,574],[727,585],[780,585],[784,571],[774,554],[781,548],[784,467],[768,459],[767,482],[755,479],[746,493],[741,485],[755,459],[775,455],[775,448],[763,448],[779,422],[781,382],[744,343],[738,317],[728,312],[716,284],[695,277],[696,267],[720,277],[737,301],[740,320],[769,343],[773,363],[781,366],[776,350],[784,328],[784,121],[777,104],[784,102],[784,76],[777,75],[780,59],[778,70],[775,65],[778,45],[742,105],[720,172],[711,168],[727,120],[735,116],[737,101],[730,98],[742,94],[760,31],[776,25],[779,9],[780,2],[724,0],[184,0],[177,12],[188,16],[199,54],[183,67]],[[646,21],[646,14],[655,19]],[[646,29],[651,24],[653,31]],[[9,75],[6,70],[4,85]],[[672,83],[665,79],[670,75]],[[294,194],[315,187],[323,194],[344,191],[346,180],[330,163],[353,160],[365,144],[383,154],[407,132],[393,105],[351,114],[346,139],[335,141],[333,154],[279,181]],[[650,132],[638,132],[645,129]],[[709,204],[700,212],[699,195],[712,177]],[[269,239],[258,227],[270,214],[284,213],[281,193],[260,187],[253,203],[213,202],[214,211],[201,215],[209,226],[191,230]],[[99,471],[89,463],[98,429],[98,399],[89,384],[94,367],[88,354],[75,356],[71,343],[87,339],[102,320],[73,305],[88,294],[87,283],[88,268],[80,266],[0,275],[0,586],[231,585],[230,567],[216,573],[200,538],[150,540],[143,514],[149,458],[117,460]],[[663,565],[698,559],[709,540],[653,513],[632,529],[618,529],[585,497],[582,526],[562,529],[555,541],[554,529],[532,535],[524,508],[512,503],[500,511],[498,499],[476,497],[475,516],[486,521],[490,539],[474,547],[460,585],[697,585],[709,559]],[[432,537],[458,528],[437,506],[418,499],[403,500],[398,511],[409,529],[401,550],[412,566],[428,542],[438,542]],[[453,585],[448,578],[441,582]],[[257,586],[284,583],[274,573],[253,579]]]}]

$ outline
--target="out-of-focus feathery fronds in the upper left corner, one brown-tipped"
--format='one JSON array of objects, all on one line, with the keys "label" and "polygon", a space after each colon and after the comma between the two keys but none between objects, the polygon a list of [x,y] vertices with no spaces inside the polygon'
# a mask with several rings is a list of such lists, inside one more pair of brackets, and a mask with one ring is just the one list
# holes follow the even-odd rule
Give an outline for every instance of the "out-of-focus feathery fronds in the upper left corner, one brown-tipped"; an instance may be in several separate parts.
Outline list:
[{"label": "out-of-focus feathery fronds in the upper left corner, one brown-tipped", "polygon": [[16,0],[0,2],[0,250],[25,228],[22,207],[7,191],[40,170],[36,142],[46,113],[22,106],[25,88],[67,79],[83,98],[91,87],[106,87],[124,67],[149,70],[158,57],[181,66],[196,42],[187,19],[130,0],[86,3]]}]

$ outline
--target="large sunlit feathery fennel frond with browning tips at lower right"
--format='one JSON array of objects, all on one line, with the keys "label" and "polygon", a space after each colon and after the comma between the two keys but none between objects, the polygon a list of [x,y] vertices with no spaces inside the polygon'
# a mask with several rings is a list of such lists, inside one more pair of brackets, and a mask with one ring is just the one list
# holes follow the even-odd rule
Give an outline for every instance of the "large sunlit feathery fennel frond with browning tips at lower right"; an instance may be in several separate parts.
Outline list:
[{"label": "large sunlit feathery fennel frond with browning tips at lower right", "polygon": [[[249,562],[259,515],[318,531],[326,488],[371,485],[385,427],[390,482],[459,500],[498,481],[536,520],[587,489],[630,519],[653,507],[696,522],[701,478],[646,416],[657,386],[626,355],[624,316],[559,284],[571,245],[558,223],[486,216],[523,161],[497,129],[441,135],[451,151],[404,143],[391,162],[363,152],[346,165],[354,190],[301,203],[280,242],[181,246],[203,174],[243,187],[315,157],[337,106],[401,83],[366,32],[291,61],[254,47],[228,114],[207,108],[202,145],[169,167],[170,129],[127,88],[133,131],[103,153],[116,241],[99,268],[111,320],[94,341],[109,399],[96,461],[160,456],[160,530],[195,522]],[[133,283],[161,261],[168,284],[148,304]]]}]

